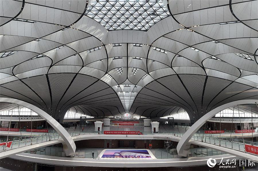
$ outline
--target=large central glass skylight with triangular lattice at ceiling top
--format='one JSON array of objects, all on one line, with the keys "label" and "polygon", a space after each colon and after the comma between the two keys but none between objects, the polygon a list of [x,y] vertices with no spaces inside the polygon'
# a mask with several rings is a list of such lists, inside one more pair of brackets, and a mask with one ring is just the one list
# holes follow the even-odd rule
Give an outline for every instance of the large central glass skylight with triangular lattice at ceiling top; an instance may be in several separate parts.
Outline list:
[{"label": "large central glass skylight with triangular lattice at ceiling top", "polygon": [[148,30],[169,16],[162,0],[93,0],[85,13],[107,30]]}]

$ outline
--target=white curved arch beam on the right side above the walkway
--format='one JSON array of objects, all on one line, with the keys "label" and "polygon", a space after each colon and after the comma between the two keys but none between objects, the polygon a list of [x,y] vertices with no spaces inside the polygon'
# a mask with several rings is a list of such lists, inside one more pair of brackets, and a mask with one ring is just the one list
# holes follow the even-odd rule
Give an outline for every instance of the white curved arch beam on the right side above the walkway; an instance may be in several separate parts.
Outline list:
[{"label": "white curved arch beam on the right side above the walkway", "polygon": [[236,100],[233,102],[229,102],[226,104],[223,104],[210,112],[206,113],[204,116],[202,116],[199,120],[197,120],[182,136],[181,140],[177,144],[177,153],[179,156],[187,156],[187,153],[189,151],[189,140],[192,138],[193,134],[196,133],[196,131],[199,130],[199,128],[202,127],[203,124],[213,116],[215,116],[220,111],[229,108],[231,106],[240,105],[240,104],[255,104],[258,103],[257,99],[251,99],[251,100]]}]

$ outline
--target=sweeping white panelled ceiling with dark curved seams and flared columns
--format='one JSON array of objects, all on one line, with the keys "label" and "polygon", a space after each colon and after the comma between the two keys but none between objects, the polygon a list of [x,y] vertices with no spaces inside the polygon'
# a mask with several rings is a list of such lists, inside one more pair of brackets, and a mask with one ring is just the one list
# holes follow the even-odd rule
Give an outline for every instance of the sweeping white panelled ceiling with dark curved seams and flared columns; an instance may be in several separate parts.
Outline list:
[{"label": "sweeping white panelled ceiling with dark curved seams and flared columns", "polygon": [[[168,1],[161,5],[164,17],[152,1],[42,2],[2,1],[3,97],[61,120],[74,106],[90,116],[162,117],[183,108],[192,122],[227,102],[258,98],[257,10],[251,8],[258,1]],[[121,10],[113,11],[116,5]],[[130,18],[138,8],[150,18],[155,11],[160,21]],[[115,26],[117,19],[129,25]]]}]

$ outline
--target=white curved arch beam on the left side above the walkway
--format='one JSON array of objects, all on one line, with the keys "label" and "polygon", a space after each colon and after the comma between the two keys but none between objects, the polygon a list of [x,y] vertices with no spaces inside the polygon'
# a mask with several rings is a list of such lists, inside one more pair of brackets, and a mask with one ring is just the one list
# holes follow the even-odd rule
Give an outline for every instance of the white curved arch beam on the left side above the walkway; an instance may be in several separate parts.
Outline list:
[{"label": "white curved arch beam on the left side above the walkway", "polygon": [[52,118],[49,114],[41,110],[40,108],[24,102],[22,100],[14,99],[14,98],[5,98],[0,97],[0,102],[9,102],[9,103],[15,103],[19,104],[21,106],[24,106],[26,108],[29,108],[36,112],[39,116],[44,118],[55,130],[58,132],[58,134],[63,138],[65,144],[63,144],[64,152],[66,156],[71,156],[75,153],[75,143],[73,141],[73,138],[70,136],[70,134],[62,127],[62,125],[59,124],[54,118]]}]

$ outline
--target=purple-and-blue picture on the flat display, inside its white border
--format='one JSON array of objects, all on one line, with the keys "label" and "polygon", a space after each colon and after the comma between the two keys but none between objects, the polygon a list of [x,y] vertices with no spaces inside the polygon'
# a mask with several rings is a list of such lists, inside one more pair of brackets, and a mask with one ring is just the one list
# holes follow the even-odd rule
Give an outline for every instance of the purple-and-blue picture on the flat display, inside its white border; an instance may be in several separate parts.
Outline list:
[{"label": "purple-and-blue picture on the flat display, inside its white border", "polygon": [[153,158],[148,150],[107,149],[101,158]]}]

